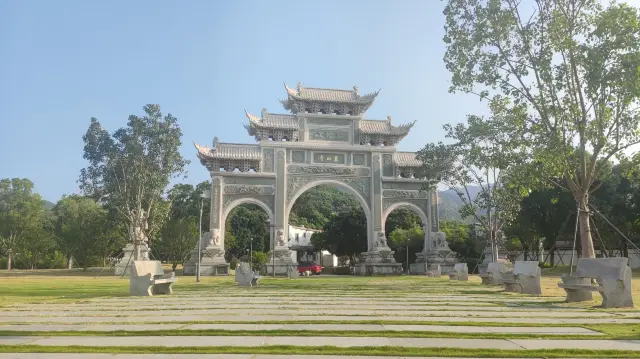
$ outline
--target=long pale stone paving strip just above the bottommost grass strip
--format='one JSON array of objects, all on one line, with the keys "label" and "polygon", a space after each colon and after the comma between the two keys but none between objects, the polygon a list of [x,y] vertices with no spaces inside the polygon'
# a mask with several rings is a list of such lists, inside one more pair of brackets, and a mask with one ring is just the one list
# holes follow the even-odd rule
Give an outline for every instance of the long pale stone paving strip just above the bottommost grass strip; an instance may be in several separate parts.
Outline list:
[{"label": "long pale stone paving strip just above the bottommost grass strip", "polygon": [[268,337],[268,336],[135,336],[135,337],[0,337],[0,345],[100,347],[386,347],[466,349],[589,349],[637,350],[640,340],[452,339],[384,337]]}]

